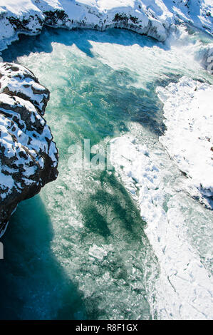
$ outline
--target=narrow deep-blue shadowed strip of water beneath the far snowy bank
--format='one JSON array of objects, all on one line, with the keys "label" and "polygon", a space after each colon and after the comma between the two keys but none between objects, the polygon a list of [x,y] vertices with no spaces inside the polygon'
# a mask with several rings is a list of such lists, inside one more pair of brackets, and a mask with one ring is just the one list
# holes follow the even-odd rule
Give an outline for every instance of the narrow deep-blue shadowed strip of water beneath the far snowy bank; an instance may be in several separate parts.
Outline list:
[{"label": "narrow deep-blue shadowed strip of water beneath the far snowy bank", "polygon": [[[125,38],[126,35],[131,38]],[[87,56],[94,57],[93,46],[90,41],[98,43],[115,43],[123,46],[133,46],[137,43],[139,46],[156,45],[166,50],[168,47],[165,44],[155,41],[153,38],[141,36],[132,31],[125,31],[123,36],[120,29],[108,29],[107,31],[93,31],[90,29],[74,29],[67,31],[66,29],[53,29],[46,27],[41,31],[40,35],[27,36],[19,35],[19,41],[15,41],[8,49],[2,51],[4,61],[15,61],[17,57],[28,56],[31,52],[45,52],[51,53],[53,47],[51,43],[62,43],[65,46],[72,46],[75,44],[80,51],[83,51]]]}]

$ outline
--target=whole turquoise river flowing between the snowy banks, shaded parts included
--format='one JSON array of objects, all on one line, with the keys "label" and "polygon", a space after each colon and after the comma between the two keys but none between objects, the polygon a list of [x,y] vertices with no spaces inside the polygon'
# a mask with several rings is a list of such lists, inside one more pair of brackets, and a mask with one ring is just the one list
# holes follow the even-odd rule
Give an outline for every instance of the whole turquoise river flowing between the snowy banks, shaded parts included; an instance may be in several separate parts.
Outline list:
[{"label": "whole turquoise river flowing between the snowy banks, shaded parts included", "polygon": [[51,91],[60,163],[58,180],[19,205],[3,237],[1,319],[156,317],[159,266],[137,204],[113,170],[68,165],[68,148],[125,133],[155,143],[165,130],[156,86],[183,75],[212,82],[188,50],[128,31],[46,29],[4,51]]}]

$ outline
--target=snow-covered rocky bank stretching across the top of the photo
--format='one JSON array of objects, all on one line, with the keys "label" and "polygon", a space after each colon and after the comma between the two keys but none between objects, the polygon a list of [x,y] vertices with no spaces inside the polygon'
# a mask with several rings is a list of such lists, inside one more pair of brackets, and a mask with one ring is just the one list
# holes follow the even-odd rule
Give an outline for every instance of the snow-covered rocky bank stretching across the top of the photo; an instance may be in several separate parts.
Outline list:
[{"label": "snow-covered rocky bank stretching across the top of the photo", "polygon": [[212,0],[0,0],[0,49],[44,25],[124,28],[165,41],[170,26],[184,21],[212,33],[212,7]]}]

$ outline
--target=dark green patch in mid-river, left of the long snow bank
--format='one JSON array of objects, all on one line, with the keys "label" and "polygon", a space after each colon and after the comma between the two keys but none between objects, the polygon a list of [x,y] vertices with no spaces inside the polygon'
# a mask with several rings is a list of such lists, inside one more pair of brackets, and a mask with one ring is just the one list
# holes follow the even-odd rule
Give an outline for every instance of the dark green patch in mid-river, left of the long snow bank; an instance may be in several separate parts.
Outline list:
[{"label": "dark green patch in mid-river, left of the long snow bank", "polygon": [[[90,195],[80,208],[85,221],[85,234],[90,232],[100,234],[107,241],[108,237],[117,231],[119,238],[125,239],[127,243],[132,244],[133,241],[141,243],[145,222],[140,217],[140,210],[128,191],[120,184],[114,173],[109,174],[104,170],[100,175],[98,173],[97,180],[100,180],[101,187],[95,194]],[[111,213],[109,219],[108,211]],[[115,227],[113,217],[116,220]]]}]

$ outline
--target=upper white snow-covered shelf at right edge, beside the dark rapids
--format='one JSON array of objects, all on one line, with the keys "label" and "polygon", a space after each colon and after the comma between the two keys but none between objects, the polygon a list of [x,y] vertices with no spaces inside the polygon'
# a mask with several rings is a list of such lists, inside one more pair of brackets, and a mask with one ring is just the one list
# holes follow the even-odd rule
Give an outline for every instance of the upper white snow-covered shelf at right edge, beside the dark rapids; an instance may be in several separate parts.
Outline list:
[{"label": "upper white snow-covered shelf at right edge, beside the dark rapids", "polygon": [[213,86],[183,77],[157,93],[167,126],[160,142],[199,192],[212,197]]}]

